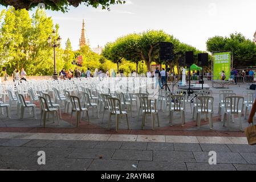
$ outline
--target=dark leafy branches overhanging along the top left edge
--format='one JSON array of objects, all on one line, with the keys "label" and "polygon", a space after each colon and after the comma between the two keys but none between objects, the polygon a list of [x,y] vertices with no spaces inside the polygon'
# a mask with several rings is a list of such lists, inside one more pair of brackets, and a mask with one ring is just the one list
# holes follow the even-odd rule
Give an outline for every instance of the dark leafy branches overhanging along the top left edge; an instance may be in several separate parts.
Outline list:
[{"label": "dark leafy branches overhanging along the top left edge", "polygon": [[67,12],[69,6],[78,7],[81,4],[85,6],[99,7],[101,5],[102,9],[108,9],[109,6],[113,4],[125,3],[124,0],[0,0],[0,5],[3,6],[13,6],[15,9],[26,9],[30,10],[39,3],[44,3],[46,9]]}]

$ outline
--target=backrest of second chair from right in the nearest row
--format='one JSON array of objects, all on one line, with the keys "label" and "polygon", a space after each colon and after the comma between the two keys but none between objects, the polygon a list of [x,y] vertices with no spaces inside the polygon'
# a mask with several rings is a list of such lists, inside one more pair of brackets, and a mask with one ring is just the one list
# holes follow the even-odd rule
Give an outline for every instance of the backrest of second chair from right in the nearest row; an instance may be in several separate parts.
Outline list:
[{"label": "backrest of second chair from right in the nearest row", "polygon": [[198,96],[196,98],[197,110],[200,109],[201,113],[213,113],[213,101],[211,96]]}]

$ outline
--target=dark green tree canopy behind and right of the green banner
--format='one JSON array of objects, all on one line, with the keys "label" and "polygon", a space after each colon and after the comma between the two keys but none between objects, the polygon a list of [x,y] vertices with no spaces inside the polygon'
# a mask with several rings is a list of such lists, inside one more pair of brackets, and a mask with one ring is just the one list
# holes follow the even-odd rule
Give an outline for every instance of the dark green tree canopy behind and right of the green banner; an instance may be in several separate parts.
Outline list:
[{"label": "dark green tree canopy behind and right of the green banner", "polygon": [[234,67],[256,65],[256,45],[241,33],[230,34],[229,37],[214,36],[208,39],[206,47],[209,52],[233,52]]}]

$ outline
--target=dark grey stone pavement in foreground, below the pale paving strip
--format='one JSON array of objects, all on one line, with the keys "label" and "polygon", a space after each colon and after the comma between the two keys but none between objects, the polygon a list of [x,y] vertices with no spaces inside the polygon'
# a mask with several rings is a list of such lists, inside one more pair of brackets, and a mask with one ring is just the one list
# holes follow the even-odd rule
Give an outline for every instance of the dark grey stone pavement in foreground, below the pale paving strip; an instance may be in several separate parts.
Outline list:
[{"label": "dark grey stone pavement in foreground, below the pale paving strip", "polygon": [[[38,151],[46,165],[38,164]],[[210,165],[209,151],[217,152]],[[70,171],[256,170],[246,144],[0,139],[0,169]]]}]

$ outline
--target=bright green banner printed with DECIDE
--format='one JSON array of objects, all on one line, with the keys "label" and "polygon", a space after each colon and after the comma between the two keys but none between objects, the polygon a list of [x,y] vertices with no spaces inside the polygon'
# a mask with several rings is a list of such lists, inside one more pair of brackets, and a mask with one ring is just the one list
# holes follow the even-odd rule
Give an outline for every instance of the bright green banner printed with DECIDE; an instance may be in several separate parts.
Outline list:
[{"label": "bright green banner printed with DECIDE", "polygon": [[226,80],[230,77],[231,53],[220,52],[213,54],[213,80],[221,80],[222,71],[225,72]]}]

